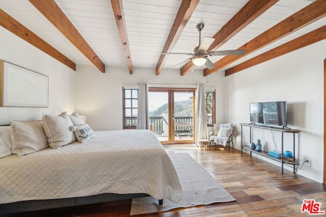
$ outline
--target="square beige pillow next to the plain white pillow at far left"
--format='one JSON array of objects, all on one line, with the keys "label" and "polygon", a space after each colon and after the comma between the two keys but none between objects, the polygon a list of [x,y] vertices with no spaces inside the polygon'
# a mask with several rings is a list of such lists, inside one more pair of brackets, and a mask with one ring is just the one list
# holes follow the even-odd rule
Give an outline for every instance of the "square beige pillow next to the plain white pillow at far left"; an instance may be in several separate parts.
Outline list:
[{"label": "square beige pillow next to the plain white pillow at far left", "polygon": [[12,152],[18,157],[48,147],[42,121],[11,121]]}]

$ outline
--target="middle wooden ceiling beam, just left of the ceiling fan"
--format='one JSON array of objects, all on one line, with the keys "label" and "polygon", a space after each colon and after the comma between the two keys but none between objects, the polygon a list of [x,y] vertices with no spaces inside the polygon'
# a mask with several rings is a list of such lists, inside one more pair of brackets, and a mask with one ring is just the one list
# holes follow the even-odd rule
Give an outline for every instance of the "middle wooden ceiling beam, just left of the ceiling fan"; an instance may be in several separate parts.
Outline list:
[{"label": "middle wooden ceiling beam, just left of the ceiling fan", "polygon": [[[162,53],[169,53],[172,51],[185,25],[187,24],[188,20],[190,19],[193,12],[195,11],[198,3],[199,0],[182,0],[179,11],[174,20],[169,37],[164,45]],[[166,61],[166,54],[161,54],[156,65],[156,75],[159,75],[159,73],[161,72],[162,67],[165,64],[165,61]]]}]

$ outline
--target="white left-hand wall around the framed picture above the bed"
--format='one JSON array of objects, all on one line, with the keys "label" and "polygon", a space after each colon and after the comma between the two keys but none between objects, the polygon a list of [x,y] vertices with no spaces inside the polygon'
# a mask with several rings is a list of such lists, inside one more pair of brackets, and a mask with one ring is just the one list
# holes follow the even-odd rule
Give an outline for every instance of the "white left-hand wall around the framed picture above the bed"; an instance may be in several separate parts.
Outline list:
[{"label": "white left-hand wall around the framed picture above the bed", "polygon": [[10,120],[40,120],[42,113],[60,114],[75,109],[76,72],[0,27],[0,59],[49,76],[49,107],[0,107],[0,124]]}]

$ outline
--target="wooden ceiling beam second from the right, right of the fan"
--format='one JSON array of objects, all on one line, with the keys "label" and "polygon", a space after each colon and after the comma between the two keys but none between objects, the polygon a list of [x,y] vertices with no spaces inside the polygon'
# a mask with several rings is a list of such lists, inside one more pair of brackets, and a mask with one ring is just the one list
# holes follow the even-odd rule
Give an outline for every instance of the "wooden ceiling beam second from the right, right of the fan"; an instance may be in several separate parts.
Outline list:
[{"label": "wooden ceiling beam second from the right, right of the fan", "polygon": [[204,69],[203,74],[204,76],[207,76],[211,73],[214,73],[216,70],[220,70],[234,63],[234,61],[239,60],[242,57],[257,51],[260,48],[263,48],[325,16],[326,1],[316,0],[307,7],[292,14],[291,16],[287,17],[275,26],[267,29],[264,33],[260,34],[256,38],[238,48],[246,49],[246,54],[242,56],[225,56],[214,63],[214,69]]}]

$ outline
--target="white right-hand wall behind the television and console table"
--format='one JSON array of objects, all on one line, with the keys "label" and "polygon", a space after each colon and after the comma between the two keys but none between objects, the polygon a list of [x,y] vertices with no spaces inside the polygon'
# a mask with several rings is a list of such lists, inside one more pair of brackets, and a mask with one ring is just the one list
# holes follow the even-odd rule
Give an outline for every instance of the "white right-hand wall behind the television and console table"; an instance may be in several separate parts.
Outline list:
[{"label": "white right-hand wall behind the television and console table", "polygon": [[[300,130],[296,136],[296,158],[309,159],[311,167],[298,174],[322,182],[323,174],[323,60],[326,40],[271,59],[225,78],[226,113],[230,122],[249,122],[249,103],[287,101],[288,126]],[[240,126],[236,126],[236,148],[240,149]],[[243,127],[243,143],[249,143],[249,128]],[[292,150],[292,134],[284,135],[284,150]],[[275,150],[270,131],[254,129],[253,140],[260,139],[264,150]],[[275,133],[281,150],[281,134]],[[268,160],[263,158],[264,160]],[[280,165],[273,160],[271,163]],[[285,166],[285,169],[292,170]]]}]

